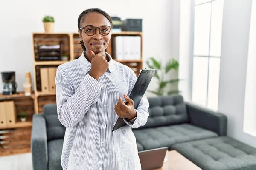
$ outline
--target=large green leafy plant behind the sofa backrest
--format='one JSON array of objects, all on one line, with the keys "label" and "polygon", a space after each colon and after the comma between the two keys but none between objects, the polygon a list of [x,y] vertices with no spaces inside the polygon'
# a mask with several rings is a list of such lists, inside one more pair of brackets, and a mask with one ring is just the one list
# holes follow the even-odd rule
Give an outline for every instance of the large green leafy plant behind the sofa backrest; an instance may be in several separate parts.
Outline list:
[{"label": "large green leafy plant behind the sofa backrest", "polygon": [[[179,62],[176,59],[170,59],[169,61],[166,62],[165,65],[162,65],[161,62],[157,61],[157,59],[154,59],[154,57],[149,58],[146,62],[149,68],[157,69],[157,71],[154,74],[154,77],[157,78],[158,88],[155,91],[148,90],[148,92],[151,92],[157,96],[165,96],[164,89],[167,87],[167,85],[168,84],[172,85],[180,81],[180,79],[166,80],[164,78],[165,75],[169,73],[169,71],[178,70]],[[179,93],[180,91],[178,89],[172,89],[167,91],[167,95],[179,94]]]}]

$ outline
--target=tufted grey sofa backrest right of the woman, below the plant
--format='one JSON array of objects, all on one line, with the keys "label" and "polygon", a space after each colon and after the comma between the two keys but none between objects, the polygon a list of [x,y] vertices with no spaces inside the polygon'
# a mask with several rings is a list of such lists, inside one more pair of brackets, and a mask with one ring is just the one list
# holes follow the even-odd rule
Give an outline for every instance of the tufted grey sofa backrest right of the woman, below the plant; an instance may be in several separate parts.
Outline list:
[{"label": "tufted grey sofa backrest right of the woman, below the plant", "polygon": [[189,122],[186,105],[181,95],[148,98],[148,122],[138,129]]}]

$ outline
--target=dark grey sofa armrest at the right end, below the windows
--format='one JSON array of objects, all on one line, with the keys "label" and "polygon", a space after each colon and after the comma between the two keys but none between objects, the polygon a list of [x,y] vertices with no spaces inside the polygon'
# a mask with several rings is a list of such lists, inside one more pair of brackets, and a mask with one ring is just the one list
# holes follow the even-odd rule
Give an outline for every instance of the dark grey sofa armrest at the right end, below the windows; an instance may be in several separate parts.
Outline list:
[{"label": "dark grey sofa armrest at the right end, below the windows", "polygon": [[211,130],[219,136],[227,135],[227,116],[186,102],[189,121],[192,125]]}]

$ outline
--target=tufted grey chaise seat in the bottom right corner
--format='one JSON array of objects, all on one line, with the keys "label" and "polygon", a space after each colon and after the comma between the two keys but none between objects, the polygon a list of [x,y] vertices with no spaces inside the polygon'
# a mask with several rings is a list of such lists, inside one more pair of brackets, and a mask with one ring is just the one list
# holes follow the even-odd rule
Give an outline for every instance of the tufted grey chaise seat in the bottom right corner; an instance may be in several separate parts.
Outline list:
[{"label": "tufted grey chaise seat in the bottom right corner", "polygon": [[256,170],[256,149],[227,136],[172,147],[203,170]]}]

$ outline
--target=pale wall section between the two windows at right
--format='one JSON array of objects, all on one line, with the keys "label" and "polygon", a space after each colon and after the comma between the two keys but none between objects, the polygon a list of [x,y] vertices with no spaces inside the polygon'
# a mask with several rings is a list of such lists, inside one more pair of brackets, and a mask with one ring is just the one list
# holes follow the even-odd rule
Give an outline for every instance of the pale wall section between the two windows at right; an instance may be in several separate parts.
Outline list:
[{"label": "pale wall section between the two windows at right", "polygon": [[256,138],[243,132],[251,4],[224,0],[218,111],[227,115],[228,136],[256,147]]}]

